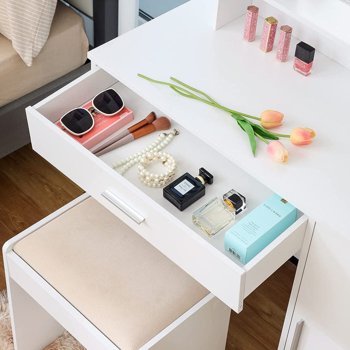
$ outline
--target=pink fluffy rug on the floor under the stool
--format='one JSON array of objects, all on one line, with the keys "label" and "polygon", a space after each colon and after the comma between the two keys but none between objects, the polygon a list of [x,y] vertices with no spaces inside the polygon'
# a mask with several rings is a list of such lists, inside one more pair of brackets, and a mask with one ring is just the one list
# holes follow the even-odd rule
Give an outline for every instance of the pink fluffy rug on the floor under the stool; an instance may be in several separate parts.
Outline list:
[{"label": "pink fluffy rug on the floor under the stool", "polygon": [[[0,292],[0,349],[14,350],[6,290]],[[86,350],[67,331],[43,350]]]}]

